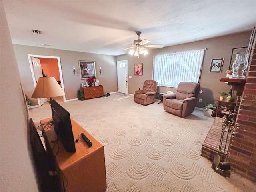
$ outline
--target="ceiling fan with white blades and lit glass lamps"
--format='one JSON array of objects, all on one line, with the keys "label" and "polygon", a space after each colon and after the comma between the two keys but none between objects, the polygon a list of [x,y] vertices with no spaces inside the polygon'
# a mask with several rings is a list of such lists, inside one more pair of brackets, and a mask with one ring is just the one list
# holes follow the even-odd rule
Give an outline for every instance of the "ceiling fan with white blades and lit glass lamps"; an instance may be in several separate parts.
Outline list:
[{"label": "ceiling fan with white blades and lit glass lamps", "polygon": [[[129,47],[129,48],[126,48],[126,49],[123,49],[123,50],[127,50],[127,49],[131,49],[129,51],[129,54],[130,55],[133,55],[134,56],[138,56],[139,57],[139,54],[148,54],[148,51],[146,50],[145,47],[154,47],[154,48],[162,48],[164,47],[164,45],[146,45],[147,43],[150,42],[150,40],[147,40],[147,39],[140,39],[140,35],[141,35],[141,31],[136,31],[136,34],[139,36],[138,39],[134,40],[133,41],[133,45],[131,44],[123,44],[123,45],[131,45],[132,47]],[[119,44],[122,44],[122,43],[119,43]],[[122,50],[122,51],[123,51]]]}]

